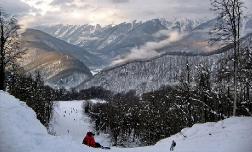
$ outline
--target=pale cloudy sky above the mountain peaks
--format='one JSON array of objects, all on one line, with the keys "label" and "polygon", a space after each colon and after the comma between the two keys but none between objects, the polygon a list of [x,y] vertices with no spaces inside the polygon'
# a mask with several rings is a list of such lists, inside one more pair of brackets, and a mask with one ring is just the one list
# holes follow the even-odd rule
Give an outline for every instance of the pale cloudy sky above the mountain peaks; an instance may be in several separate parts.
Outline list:
[{"label": "pale cloudy sky above the mountain peaks", "polygon": [[[252,0],[244,0],[251,9]],[[117,24],[153,18],[210,18],[209,0],[0,0],[24,26]]]}]

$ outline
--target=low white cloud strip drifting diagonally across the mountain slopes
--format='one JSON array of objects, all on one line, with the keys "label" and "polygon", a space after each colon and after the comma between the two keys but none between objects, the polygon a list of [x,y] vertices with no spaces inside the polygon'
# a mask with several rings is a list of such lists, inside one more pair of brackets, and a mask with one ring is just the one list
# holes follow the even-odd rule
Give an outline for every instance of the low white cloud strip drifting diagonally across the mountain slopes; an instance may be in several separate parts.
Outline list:
[{"label": "low white cloud strip drifting diagonally across the mountain slopes", "polygon": [[180,34],[177,31],[167,31],[162,30],[155,34],[155,36],[163,36],[166,35],[167,39],[162,40],[160,42],[147,42],[143,46],[139,48],[133,48],[130,50],[129,54],[124,57],[116,58],[112,65],[122,64],[125,62],[139,60],[139,59],[148,59],[159,55],[158,50],[164,48],[165,46],[169,45],[172,42],[180,40],[185,34]]}]

